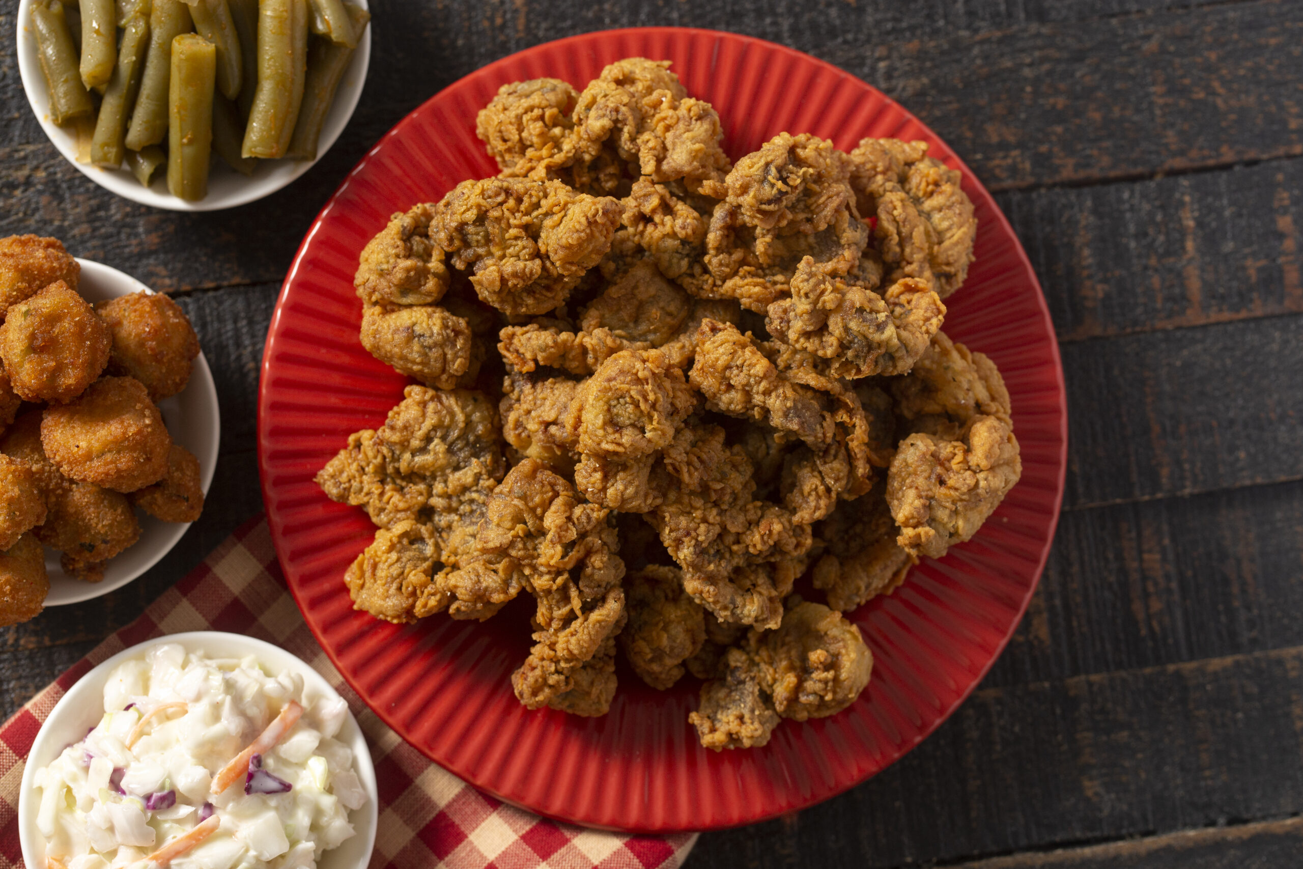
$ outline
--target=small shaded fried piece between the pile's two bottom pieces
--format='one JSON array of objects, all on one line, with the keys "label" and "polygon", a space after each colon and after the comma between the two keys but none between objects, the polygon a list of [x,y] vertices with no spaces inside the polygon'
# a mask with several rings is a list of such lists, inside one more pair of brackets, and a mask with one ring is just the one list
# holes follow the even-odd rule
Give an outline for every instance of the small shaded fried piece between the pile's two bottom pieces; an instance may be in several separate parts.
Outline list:
[{"label": "small shaded fried piece between the pile's two bottom pieces", "polygon": [[706,641],[705,611],[683,590],[681,573],[650,564],[624,577],[629,621],[620,649],[646,684],[665,691],[684,674],[683,662]]}]

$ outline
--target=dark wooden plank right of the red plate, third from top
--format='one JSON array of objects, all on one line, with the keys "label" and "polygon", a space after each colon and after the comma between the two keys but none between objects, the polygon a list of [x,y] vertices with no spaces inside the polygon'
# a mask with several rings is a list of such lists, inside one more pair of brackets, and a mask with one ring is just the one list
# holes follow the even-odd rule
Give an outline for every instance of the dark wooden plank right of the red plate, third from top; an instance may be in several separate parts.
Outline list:
[{"label": "dark wooden plank right of the red plate, third from top", "polygon": [[1303,478],[1303,317],[1062,349],[1068,508]]}]

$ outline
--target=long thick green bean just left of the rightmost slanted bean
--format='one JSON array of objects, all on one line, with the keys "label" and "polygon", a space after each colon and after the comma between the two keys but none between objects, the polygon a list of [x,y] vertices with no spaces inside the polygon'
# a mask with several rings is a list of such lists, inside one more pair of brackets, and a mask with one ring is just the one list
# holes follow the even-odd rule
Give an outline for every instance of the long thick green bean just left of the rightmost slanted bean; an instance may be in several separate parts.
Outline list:
[{"label": "long thick green bean just left of the rightmost slanted bean", "polygon": [[308,0],[258,1],[258,90],[245,128],[242,156],[285,155],[304,102],[308,70]]}]

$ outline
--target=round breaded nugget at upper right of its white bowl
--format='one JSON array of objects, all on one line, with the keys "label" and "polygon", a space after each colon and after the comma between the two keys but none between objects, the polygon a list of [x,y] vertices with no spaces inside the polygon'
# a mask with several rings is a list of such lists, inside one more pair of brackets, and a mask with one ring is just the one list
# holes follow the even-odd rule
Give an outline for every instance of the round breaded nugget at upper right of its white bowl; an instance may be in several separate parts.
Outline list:
[{"label": "round breaded nugget at upper right of its white bowl", "polygon": [[95,304],[113,336],[111,374],[129,374],[155,401],[176,395],[190,380],[199,336],[181,306],[163,293],[143,291]]}]

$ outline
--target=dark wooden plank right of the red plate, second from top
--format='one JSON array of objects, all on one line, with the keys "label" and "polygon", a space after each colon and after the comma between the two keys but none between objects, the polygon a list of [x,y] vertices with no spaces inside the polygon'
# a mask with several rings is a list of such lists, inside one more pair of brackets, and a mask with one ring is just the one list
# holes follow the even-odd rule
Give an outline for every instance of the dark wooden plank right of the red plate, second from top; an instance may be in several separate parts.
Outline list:
[{"label": "dark wooden plank right of the red plate, second from top", "polygon": [[1059,340],[1303,313],[1303,160],[997,195]]}]

